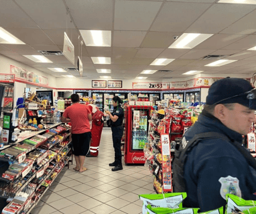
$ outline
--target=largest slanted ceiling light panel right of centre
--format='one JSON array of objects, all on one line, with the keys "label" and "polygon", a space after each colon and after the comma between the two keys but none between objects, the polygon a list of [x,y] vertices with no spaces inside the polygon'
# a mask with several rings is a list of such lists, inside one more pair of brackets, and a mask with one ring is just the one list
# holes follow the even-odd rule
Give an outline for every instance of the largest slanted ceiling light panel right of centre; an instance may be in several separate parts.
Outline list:
[{"label": "largest slanted ceiling light panel right of centre", "polygon": [[199,45],[213,34],[206,33],[183,33],[169,48],[187,48],[191,49]]}]

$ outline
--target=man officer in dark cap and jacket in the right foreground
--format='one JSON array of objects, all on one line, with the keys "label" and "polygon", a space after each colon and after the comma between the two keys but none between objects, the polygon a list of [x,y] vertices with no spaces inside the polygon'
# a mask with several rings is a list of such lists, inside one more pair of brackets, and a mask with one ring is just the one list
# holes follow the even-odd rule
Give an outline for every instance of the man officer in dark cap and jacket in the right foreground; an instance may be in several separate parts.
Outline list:
[{"label": "man officer in dark cap and jacket in the right foreground", "polygon": [[256,89],[239,78],[213,83],[206,105],[175,149],[173,190],[200,212],[226,205],[226,194],[256,200],[256,161],[242,146],[255,121]]}]

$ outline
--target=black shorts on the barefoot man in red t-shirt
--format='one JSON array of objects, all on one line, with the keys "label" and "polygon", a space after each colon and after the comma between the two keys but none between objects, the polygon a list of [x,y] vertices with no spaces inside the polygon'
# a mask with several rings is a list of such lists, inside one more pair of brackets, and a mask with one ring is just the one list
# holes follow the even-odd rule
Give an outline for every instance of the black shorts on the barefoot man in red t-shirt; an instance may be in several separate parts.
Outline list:
[{"label": "black shorts on the barefoot man in red t-shirt", "polygon": [[72,134],[73,154],[75,156],[86,156],[89,153],[89,143],[91,141],[91,132],[82,134]]}]

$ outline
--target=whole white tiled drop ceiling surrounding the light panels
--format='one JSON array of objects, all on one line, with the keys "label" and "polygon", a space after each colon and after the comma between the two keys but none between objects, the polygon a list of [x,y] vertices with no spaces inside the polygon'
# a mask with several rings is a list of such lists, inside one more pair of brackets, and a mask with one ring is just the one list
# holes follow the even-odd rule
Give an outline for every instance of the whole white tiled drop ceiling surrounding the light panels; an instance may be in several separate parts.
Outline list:
[{"label": "whole white tiled drop ceiling surrounding the light panels", "polygon": [[[0,27],[26,45],[1,44],[0,54],[56,77],[79,78],[78,71],[47,69],[76,68],[64,56],[46,56],[53,63],[35,63],[23,56],[40,55],[39,50],[62,51],[67,32],[76,60],[82,55],[83,78],[103,76],[96,69],[111,69],[107,76],[114,79],[187,78],[183,73],[191,70],[250,74],[256,71],[256,50],[247,50],[256,46],[255,20],[255,4],[218,0],[6,0],[0,1]],[[79,30],[111,30],[111,47],[84,44],[79,50]],[[192,49],[168,48],[183,33],[214,35]],[[203,60],[206,55],[227,55],[223,59],[237,61],[209,67],[205,65],[216,60]],[[111,57],[111,65],[94,64],[91,57]],[[156,58],[175,60],[167,66],[150,65]],[[159,69],[172,72],[140,74]]]}]

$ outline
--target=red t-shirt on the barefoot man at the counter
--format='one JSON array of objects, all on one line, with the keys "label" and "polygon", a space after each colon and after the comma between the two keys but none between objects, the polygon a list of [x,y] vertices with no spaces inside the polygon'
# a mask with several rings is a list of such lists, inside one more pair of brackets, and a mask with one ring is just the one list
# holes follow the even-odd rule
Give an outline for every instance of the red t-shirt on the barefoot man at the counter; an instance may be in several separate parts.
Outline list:
[{"label": "red t-shirt on the barefoot man at the counter", "polygon": [[88,114],[91,114],[89,107],[77,103],[67,107],[63,117],[70,118],[73,134],[81,134],[91,132]]}]

